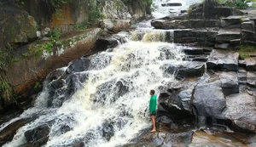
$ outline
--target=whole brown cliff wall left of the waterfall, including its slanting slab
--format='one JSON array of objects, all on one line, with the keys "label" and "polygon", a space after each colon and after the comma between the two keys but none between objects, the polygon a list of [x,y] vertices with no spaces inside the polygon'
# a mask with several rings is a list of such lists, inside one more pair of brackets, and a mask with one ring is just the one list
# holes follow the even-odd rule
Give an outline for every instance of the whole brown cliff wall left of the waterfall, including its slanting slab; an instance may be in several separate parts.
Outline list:
[{"label": "whole brown cliff wall left of the waterfall, including its slanting slab", "polygon": [[[111,41],[108,38],[108,42],[104,42],[102,38],[97,42],[96,40],[100,34],[109,36],[126,30],[131,23],[148,17],[151,13],[150,5],[151,1],[146,0],[4,1],[0,5],[0,26],[3,28],[0,31],[0,53],[3,54],[1,66],[4,66],[1,67],[0,75],[3,81],[9,82],[9,91],[26,98],[33,93],[35,83],[40,82],[55,68],[67,65],[83,55],[116,46],[119,39]],[[84,31],[87,27],[102,27],[102,30]],[[78,30],[83,31],[77,32]],[[56,39],[58,33],[65,34],[66,37]],[[37,39],[41,39],[42,44],[34,42]],[[104,47],[97,48],[99,43],[103,43]],[[31,56],[29,52],[37,53],[37,48],[43,48],[43,51],[39,51],[44,52],[43,55],[39,53],[39,57]],[[5,105],[12,103],[1,101]]]}]

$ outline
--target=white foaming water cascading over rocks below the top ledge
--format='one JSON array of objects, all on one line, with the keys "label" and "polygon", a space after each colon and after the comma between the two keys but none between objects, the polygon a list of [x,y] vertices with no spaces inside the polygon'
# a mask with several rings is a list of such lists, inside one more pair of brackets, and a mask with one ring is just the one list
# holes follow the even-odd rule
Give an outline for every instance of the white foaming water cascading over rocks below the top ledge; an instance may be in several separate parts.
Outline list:
[{"label": "white foaming water cascading over rocks below the top ledge", "polygon": [[[35,113],[40,116],[20,127],[15,138],[3,146],[24,144],[26,130],[49,122],[52,126],[45,146],[68,146],[77,141],[90,147],[127,143],[141,130],[150,127],[145,112],[148,92],[174,81],[172,76],[163,76],[165,69],[162,65],[182,62],[181,48],[166,42],[131,41],[91,56],[90,70],[74,73],[88,76],[83,87],[78,88],[60,108],[47,108],[47,84],[50,83],[45,83],[36,105],[16,119]],[[64,126],[71,129],[61,133]]]}]

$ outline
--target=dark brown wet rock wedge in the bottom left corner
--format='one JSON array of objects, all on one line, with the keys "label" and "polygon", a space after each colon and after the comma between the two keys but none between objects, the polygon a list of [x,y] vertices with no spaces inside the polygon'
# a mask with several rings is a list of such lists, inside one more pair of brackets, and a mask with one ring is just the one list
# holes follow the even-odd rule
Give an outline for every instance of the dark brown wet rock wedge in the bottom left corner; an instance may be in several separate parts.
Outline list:
[{"label": "dark brown wet rock wedge in the bottom left corner", "polygon": [[26,118],[26,119],[12,122],[7,127],[4,127],[3,130],[0,132],[0,146],[11,141],[15,136],[16,131],[20,127],[25,126],[26,123],[32,122],[32,120],[33,120],[32,118]]}]

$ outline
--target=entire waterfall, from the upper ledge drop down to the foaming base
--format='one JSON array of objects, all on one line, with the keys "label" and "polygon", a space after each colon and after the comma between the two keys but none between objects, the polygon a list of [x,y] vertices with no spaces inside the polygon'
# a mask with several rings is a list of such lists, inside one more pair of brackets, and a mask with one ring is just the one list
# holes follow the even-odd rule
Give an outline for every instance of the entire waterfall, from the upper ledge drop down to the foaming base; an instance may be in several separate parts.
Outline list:
[{"label": "entire waterfall, from the upper ledge drop down to the foaming base", "polygon": [[[160,3],[154,1],[154,17],[166,15]],[[49,126],[45,147],[113,147],[150,128],[149,90],[160,93],[161,86],[176,81],[165,73],[166,65],[182,64],[187,47],[172,43],[173,31],[152,30],[148,22],[130,35],[120,33],[127,42],[118,47],[73,61],[57,70],[57,79],[46,78],[34,106],[0,126],[3,130],[17,120],[34,118],[3,147],[25,144],[24,133],[44,124]]]}]

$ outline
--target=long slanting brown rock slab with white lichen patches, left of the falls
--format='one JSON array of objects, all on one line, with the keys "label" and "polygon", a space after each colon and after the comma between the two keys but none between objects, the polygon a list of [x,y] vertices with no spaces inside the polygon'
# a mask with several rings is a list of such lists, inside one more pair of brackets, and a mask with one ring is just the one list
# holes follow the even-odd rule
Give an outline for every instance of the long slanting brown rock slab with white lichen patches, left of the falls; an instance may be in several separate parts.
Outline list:
[{"label": "long slanting brown rock slab with white lichen patches, left of the falls", "polygon": [[[35,82],[44,79],[50,71],[67,65],[68,62],[79,58],[81,55],[96,53],[97,50],[93,50],[92,47],[100,32],[101,29],[92,29],[83,31],[78,36],[63,39],[61,42],[67,43],[57,45],[51,54],[32,54],[26,59],[21,59],[4,67],[3,70],[6,75],[2,75],[2,77],[9,79],[9,84],[14,88],[15,93],[26,98],[32,94]],[[33,45],[31,46],[33,47]],[[31,47],[27,46],[26,48]]]}]

